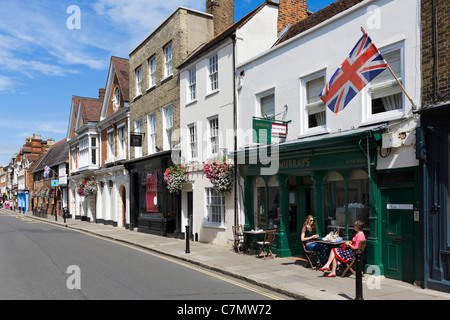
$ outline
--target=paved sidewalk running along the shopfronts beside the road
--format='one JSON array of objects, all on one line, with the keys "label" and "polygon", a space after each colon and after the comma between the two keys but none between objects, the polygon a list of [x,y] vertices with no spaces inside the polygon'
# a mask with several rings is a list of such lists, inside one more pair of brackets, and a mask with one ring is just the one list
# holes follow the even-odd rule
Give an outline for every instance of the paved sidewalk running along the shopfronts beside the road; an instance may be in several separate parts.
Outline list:
[{"label": "paved sidewalk running along the shopfronts beside the road", "polygon": [[[54,216],[48,218],[34,217],[31,213],[14,213],[14,215],[37,219],[71,229],[88,232],[97,236],[121,241],[170,256],[176,259],[209,268],[224,274],[249,281],[291,296],[307,300],[352,300],[355,298],[355,276],[326,278],[321,271],[313,271],[304,267],[304,260],[295,258],[275,258],[264,260],[254,255],[235,253],[231,247],[190,242],[190,253],[185,253],[186,241],[130,231],[124,228],[103,224],[67,219],[66,224],[61,217],[55,221]],[[374,277],[364,275],[364,300],[450,300],[450,294],[422,289],[402,281],[378,277],[379,289],[370,290],[375,284]]]}]

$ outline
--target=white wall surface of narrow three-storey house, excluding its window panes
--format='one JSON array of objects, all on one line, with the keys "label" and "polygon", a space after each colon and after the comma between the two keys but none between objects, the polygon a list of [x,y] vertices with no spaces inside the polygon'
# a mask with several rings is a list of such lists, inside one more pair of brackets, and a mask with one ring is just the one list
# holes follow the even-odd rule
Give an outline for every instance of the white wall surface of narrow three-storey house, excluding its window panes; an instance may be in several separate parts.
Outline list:
[{"label": "white wall surface of narrow three-storey house, excluding its window panes", "polygon": [[[249,20],[236,34],[236,63],[245,61],[269,49],[276,41],[278,9],[276,6],[265,6]],[[208,94],[208,59],[218,53],[219,60],[219,90]],[[188,102],[188,70],[196,66],[197,99]],[[187,223],[187,191],[193,192],[193,233],[199,234],[199,241],[229,245],[233,238],[231,226],[234,225],[234,193],[225,198],[225,223],[221,226],[207,226],[204,219],[207,216],[205,188],[211,188],[210,181],[203,175],[203,162],[211,154],[209,152],[209,119],[219,117],[219,153],[223,149],[234,150],[234,65],[233,43],[230,38],[210,50],[203,56],[180,70],[180,128],[181,150],[185,164],[188,164],[192,184],[184,186],[182,194],[182,230]],[[198,158],[192,163],[189,147],[188,125],[197,125]],[[240,223],[243,223],[243,213],[240,213]]]}]

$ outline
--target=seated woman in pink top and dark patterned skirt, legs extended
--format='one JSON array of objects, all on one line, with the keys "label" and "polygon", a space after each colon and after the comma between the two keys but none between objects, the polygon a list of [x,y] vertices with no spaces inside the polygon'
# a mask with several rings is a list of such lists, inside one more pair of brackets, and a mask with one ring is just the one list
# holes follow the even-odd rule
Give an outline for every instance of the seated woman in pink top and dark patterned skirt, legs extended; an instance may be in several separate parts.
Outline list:
[{"label": "seated woman in pink top and dark patterned skirt, legs extended", "polygon": [[327,263],[320,268],[322,271],[329,271],[330,265],[332,264],[331,273],[327,275],[327,277],[335,277],[336,276],[336,267],[338,264],[338,260],[342,262],[348,262],[350,259],[355,257],[355,252],[353,250],[359,247],[359,243],[361,241],[365,241],[366,237],[364,236],[364,232],[362,229],[364,228],[364,223],[357,220],[355,221],[354,229],[356,231],[356,235],[353,237],[352,241],[346,241],[344,246],[339,248],[333,248],[330,252],[330,257],[328,258]]}]

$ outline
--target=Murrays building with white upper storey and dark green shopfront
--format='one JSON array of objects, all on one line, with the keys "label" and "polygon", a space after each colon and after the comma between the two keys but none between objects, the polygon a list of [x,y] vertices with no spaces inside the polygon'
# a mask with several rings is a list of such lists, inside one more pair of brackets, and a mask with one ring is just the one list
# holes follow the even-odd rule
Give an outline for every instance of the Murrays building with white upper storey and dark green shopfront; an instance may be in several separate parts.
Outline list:
[{"label": "Murrays building with white upper storey and dark green shopfront", "polygon": [[[322,236],[338,231],[344,239],[362,220],[366,266],[420,281],[419,119],[413,113],[421,86],[419,12],[418,1],[337,1],[238,66],[245,228],[276,228],[279,256],[302,253],[300,232],[309,214]],[[322,89],[362,37],[361,27],[415,105],[388,70],[337,115],[321,101]],[[264,120],[287,125],[287,134],[267,141],[271,131],[259,130]]]}]

